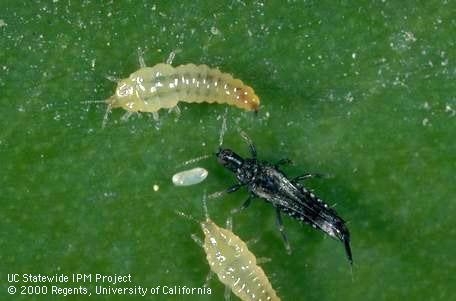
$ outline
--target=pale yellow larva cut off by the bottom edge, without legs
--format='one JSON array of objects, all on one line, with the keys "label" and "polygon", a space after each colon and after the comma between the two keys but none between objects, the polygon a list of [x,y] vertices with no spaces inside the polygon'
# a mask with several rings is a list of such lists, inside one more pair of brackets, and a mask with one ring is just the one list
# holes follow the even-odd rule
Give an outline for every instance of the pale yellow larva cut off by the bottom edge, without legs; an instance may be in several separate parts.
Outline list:
[{"label": "pale yellow larva cut off by the bottom edge, without legs", "polygon": [[211,270],[241,300],[280,300],[255,255],[233,232],[209,218],[201,222],[204,251]]}]

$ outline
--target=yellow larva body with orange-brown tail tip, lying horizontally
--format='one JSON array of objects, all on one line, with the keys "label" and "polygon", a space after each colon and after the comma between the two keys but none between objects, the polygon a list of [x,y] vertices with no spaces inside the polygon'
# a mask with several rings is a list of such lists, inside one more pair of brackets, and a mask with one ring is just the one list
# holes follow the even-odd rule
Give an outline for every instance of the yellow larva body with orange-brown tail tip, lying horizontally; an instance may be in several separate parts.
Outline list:
[{"label": "yellow larva body with orange-brown tail tip, lying horizontally", "polygon": [[128,112],[157,112],[179,101],[226,103],[245,110],[258,110],[260,100],[253,89],[230,74],[206,65],[173,67],[157,64],[142,67],[117,84],[106,102]]}]

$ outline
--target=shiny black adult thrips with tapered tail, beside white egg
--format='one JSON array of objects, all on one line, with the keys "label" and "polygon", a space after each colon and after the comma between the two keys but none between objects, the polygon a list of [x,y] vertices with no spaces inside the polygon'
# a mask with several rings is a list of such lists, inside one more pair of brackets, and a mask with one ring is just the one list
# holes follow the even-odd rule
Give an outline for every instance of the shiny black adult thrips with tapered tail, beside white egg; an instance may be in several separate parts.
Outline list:
[{"label": "shiny black adult thrips with tapered tail, beside white egg", "polygon": [[[250,144],[250,149],[252,158],[248,159],[242,158],[230,149],[221,149],[216,154],[218,162],[231,170],[239,182],[229,188],[227,192],[236,191],[243,186],[246,186],[250,192],[249,198],[239,210],[246,208],[253,197],[262,198],[276,208],[277,223],[287,249],[289,249],[289,245],[283,231],[281,212],[342,241],[347,258],[352,263],[350,233],[345,221],[337,215],[334,209],[297,182],[314,175],[306,174],[290,180],[279,170],[278,164],[257,160],[253,144]],[[279,163],[286,162],[280,161]]]}]

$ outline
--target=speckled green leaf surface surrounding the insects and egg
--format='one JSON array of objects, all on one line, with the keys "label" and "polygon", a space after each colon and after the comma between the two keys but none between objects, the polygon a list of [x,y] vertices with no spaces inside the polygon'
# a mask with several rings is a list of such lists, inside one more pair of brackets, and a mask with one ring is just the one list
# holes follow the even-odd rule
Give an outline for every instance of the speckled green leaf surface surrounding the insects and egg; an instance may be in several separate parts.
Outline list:
[{"label": "speckled green leaf surface surrounding the insects and egg", "polygon": [[[182,104],[159,125],[150,114],[121,122],[117,109],[101,129],[106,106],[82,102],[113,94],[105,77],[138,69],[138,48],[148,65],[180,50],[174,65],[207,64],[255,89],[258,116],[230,107],[225,146],[248,155],[241,128],[260,158],[293,159],[290,176],[330,176],[308,186],[348,220],[353,272],[341,243],[284,218],[288,256],[269,204],[235,217],[235,233],[272,259],[262,266],[282,300],[454,298],[454,2],[99,3],[1,1],[0,299],[65,299],[10,296],[10,273],[203,285],[208,264],[190,238],[201,231],[174,210],[200,219],[204,191],[234,178],[210,158],[188,166],[209,171],[204,183],[170,179],[217,149],[226,106]],[[223,225],[246,196],[210,200],[211,217]],[[221,300],[220,282],[210,287],[146,300]]]}]

